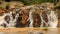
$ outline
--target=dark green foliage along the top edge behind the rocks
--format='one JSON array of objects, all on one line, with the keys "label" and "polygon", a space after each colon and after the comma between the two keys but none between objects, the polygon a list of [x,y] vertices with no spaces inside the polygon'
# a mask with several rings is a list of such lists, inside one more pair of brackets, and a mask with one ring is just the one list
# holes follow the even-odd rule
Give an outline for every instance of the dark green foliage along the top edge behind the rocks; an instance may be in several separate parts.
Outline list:
[{"label": "dark green foliage along the top edge behind the rocks", "polygon": [[57,0],[20,0],[20,1],[22,1],[25,5],[41,4],[43,2],[53,2],[53,3],[57,2]]}]

